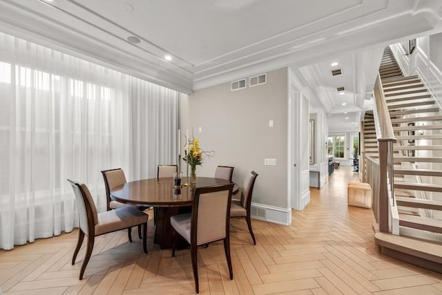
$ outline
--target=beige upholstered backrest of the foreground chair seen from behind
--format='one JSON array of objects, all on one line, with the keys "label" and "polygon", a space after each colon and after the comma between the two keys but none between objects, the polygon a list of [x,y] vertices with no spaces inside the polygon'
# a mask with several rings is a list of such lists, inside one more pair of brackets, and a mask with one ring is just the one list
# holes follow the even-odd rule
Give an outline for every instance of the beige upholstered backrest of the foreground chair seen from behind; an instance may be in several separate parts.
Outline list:
[{"label": "beige upholstered backrest of the foreground chair seen from behind", "polygon": [[229,235],[233,183],[195,189],[191,242],[202,245]]}]

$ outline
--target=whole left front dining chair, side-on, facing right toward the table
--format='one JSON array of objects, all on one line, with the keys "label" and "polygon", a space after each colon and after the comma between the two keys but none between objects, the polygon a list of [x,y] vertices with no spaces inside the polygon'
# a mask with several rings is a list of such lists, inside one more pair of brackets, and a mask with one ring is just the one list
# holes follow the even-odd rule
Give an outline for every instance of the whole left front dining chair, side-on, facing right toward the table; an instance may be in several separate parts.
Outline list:
[{"label": "whole left front dining chair, side-on, facing right toward the table", "polygon": [[92,255],[95,236],[108,234],[121,229],[130,230],[131,227],[140,225],[143,228],[143,250],[144,253],[147,253],[146,236],[148,215],[146,213],[138,210],[135,206],[125,206],[115,210],[97,213],[97,207],[95,207],[95,203],[86,184],[79,184],[73,180],[68,180],[68,182],[70,182],[74,190],[79,215],[78,241],[72,258],[72,265],[75,265],[75,259],[83,243],[84,236],[88,237],[86,255],[84,256],[80,269],[80,280],[83,278],[84,271]]}]

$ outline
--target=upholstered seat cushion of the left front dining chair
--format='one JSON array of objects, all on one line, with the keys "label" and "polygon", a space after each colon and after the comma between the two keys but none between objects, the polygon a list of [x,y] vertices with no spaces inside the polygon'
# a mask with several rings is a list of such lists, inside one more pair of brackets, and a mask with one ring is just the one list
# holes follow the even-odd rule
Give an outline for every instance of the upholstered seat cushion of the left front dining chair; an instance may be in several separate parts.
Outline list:
[{"label": "upholstered seat cushion of the left front dining chair", "polygon": [[133,225],[147,222],[148,215],[135,206],[124,206],[98,214],[98,223],[95,225],[95,236],[119,229],[126,229]]}]

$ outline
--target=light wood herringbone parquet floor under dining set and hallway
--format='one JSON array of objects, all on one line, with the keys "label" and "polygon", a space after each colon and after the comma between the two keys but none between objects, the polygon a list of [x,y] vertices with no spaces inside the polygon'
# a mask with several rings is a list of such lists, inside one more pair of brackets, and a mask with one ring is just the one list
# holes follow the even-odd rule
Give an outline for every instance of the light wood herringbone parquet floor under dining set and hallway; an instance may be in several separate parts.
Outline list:
[{"label": "light wood herringbone parquet floor under dining set and hallway", "polygon": [[[233,280],[222,242],[198,249],[200,294],[442,294],[442,275],[378,254],[372,211],[347,207],[347,183],[357,180],[341,166],[311,202],[293,211],[289,227],[253,220],[257,245],[247,225],[231,222]],[[259,179],[258,179],[259,181]],[[148,254],[134,231],[96,238],[83,280],[81,249],[70,265],[77,230],[32,244],[0,250],[2,294],[193,294],[189,249],[153,245]]]}]

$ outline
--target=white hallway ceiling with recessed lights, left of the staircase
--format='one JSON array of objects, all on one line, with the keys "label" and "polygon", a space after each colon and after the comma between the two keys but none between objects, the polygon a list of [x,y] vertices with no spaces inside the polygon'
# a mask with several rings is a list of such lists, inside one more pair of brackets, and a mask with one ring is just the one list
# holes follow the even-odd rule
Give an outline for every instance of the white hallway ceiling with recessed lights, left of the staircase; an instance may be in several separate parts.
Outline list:
[{"label": "white hallway ceiling with recessed lights, left of the staircase", "polygon": [[371,108],[383,49],[384,46],[374,46],[299,68],[319,102],[316,106],[311,104],[311,108],[322,108],[329,114],[330,132],[358,130],[363,114]]}]

